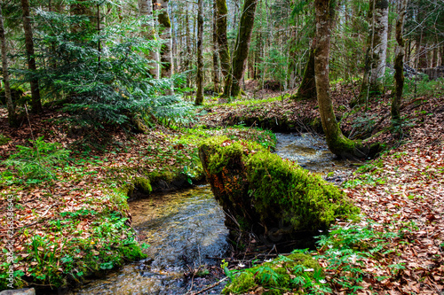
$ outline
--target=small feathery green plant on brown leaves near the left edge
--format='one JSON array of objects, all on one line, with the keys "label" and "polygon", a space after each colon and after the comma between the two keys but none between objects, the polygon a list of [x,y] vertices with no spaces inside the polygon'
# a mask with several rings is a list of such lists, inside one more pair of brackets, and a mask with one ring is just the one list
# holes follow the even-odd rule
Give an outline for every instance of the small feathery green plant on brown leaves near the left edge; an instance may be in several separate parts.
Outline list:
[{"label": "small feathery green plant on brown leaves near the left edge", "polygon": [[14,167],[20,176],[33,180],[55,179],[54,167],[67,161],[69,150],[58,143],[46,143],[41,136],[29,140],[32,146],[17,145],[18,151],[6,159],[6,167]]}]

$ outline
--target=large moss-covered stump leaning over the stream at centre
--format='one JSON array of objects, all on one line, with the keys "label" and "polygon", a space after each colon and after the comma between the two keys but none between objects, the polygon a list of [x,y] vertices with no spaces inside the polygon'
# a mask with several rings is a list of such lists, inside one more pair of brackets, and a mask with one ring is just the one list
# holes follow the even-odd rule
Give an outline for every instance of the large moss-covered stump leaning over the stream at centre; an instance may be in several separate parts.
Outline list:
[{"label": "large moss-covered stump leaning over the stream at centre", "polygon": [[345,192],[259,144],[210,137],[199,156],[215,198],[231,215],[228,227],[239,224],[275,241],[359,213]]}]

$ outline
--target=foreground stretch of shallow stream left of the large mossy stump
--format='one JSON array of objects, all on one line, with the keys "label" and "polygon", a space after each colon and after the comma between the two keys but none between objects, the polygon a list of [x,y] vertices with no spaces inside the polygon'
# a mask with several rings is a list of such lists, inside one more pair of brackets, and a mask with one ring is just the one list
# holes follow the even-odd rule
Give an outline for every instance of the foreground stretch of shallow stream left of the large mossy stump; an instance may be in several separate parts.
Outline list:
[{"label": "foreground stretch of shallow stream left of the large mossy stump", "polygon": [[[201,265],[215,265],[227,250],[224,212],[210,186],[150,196],[130,203],[132,226],[140,242],[150,245],[148,258],[92,280],[71,294],[185,294],[191,286],[184,273]],[[194,287],[204,280],[194,278]],[[219,288],[209,293],[220,293]]]}]

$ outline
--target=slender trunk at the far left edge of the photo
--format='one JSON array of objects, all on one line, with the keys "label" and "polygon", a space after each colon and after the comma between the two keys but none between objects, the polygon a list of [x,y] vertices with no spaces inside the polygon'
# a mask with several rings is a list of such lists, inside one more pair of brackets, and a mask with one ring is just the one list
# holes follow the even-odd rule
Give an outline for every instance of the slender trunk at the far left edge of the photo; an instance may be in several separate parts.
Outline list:
[{"label": "slender trunk at the far left edge of the photo", "polygon": [[6,106],[8,107],[8,121],[9,121],[9,126],[15,127],[17,126],[17,116],[15,114],[15,108],[12,103],[11,87],[9,84],[8,57],[7,57],[8,52],[6,50],[6,38],[4,36],[3,13],[1,5],[0,5],[0,42],[2,45],[4,97],[6,98]]}]

